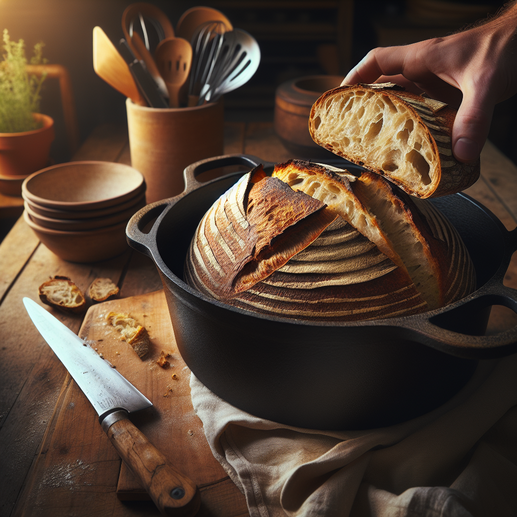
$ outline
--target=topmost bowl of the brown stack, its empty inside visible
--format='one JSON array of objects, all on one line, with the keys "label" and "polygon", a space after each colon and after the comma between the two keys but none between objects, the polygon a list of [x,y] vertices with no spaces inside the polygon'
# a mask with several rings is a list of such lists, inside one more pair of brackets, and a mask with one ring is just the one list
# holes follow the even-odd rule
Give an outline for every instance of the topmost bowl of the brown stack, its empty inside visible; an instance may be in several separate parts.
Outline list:
[{"label": "topmost bowl of the brown stack, its empty inside visible", "polygon": [[142,174],[129,165],[102,161],[59,163],[31,174],[23,197],[57,210],[108,208],[145,190]]}]

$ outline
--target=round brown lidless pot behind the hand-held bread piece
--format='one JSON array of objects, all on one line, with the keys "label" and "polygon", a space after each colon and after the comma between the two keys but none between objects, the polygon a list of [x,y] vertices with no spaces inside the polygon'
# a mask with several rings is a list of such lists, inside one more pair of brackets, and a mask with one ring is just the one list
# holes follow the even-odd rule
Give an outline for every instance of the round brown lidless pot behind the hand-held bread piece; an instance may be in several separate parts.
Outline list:
[{"label": "round brown lidless pot behind the hand-held bread piece", "polygon": [[300,158],[333,157],[309,133],[314,102],[343,81],[340,75],[309,75],[282,83],[275,96],[275,131],[288,151]]}]

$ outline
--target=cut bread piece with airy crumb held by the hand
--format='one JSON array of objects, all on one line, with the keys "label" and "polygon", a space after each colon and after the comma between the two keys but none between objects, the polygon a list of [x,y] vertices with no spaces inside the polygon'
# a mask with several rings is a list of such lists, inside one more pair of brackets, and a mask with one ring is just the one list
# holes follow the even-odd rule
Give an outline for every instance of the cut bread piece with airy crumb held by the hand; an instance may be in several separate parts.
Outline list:
[{"label": "cut bread piece with airy crumb held by the hand", "polygon": [[393,83],[340,86],[323,94],[309,120],[312,139],[417,197],[460,192],[478,179],[452,155],[456,117],[442,102]]}]

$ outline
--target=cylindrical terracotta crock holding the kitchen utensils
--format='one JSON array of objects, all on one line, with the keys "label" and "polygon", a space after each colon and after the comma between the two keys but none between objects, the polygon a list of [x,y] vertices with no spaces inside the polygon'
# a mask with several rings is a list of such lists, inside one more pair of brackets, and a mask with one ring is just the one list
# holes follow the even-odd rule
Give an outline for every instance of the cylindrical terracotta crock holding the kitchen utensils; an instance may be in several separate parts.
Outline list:
[{"label": "cylindrical terracotta crock holding the kitchen utensils", "polygon": [[223,154],[223,104],[147,108],[126,101],[131,165],[145,177],[147,203],[183,192],[192,162]]}]

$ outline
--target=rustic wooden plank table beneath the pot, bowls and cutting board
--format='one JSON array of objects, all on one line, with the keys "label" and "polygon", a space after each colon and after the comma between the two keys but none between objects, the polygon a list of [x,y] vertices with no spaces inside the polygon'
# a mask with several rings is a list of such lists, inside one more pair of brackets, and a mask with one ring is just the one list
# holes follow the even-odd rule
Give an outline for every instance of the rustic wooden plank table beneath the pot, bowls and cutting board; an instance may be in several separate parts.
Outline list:
[{"label": "rustic wooden plank table beneath the pot, bowls and cutting board", "polygon": [[[270,123],[229,123],[225,126],[225,153],[246,153],[266,161],[291,158],[277,139]],[[74,160],[107,160],[130,163],[127,131],[116,126],[97,128],[75,154]],[[517,223],[517,167],[490,142],[481,155],[481,178],[467,193],[490,208],[508,230]],[[9,200],[8,200],[9,201]],[[2,200],[0,200],[0,203]],[[121,503],[115,494],[120,461],[98,458],[77,468],[95,471],[95,482],[85,486],[70,483],[66,472],[47,473],[45,483],[35,480],[38,464],[55,451],[48,444],[53,416],[64,386],[66,370],[29,321],[22,297],[36,298],[38,286],[49,276],[65,275],[85,290],[96,277],[118,282],[120,296],[156,291],[161,281],[146,256],[128,250],[113,260],[98,264],[72,264],[60,260],[19,219],[0,246],[0,517],[10,515],[139,516],[155,515],[145,501]],[[505,284],[517,288],[514,254]],[[515,314],[494,308],[489,333],[517,324]],[[59,315],[78,332],[83,316]],[[71,444],[80,447],[81,444]],[[106,438],[104,449],[112,448]],[[108,449],[107,449],[108,450]],[[113,458],[113,450],[109,449]],[[116,456],[115,456],[116,457]],[[58,495],[56,495],[58,494]],[[231,487],[219,506],[205,506],[202,514],[247,515],[244,496]]]}]

